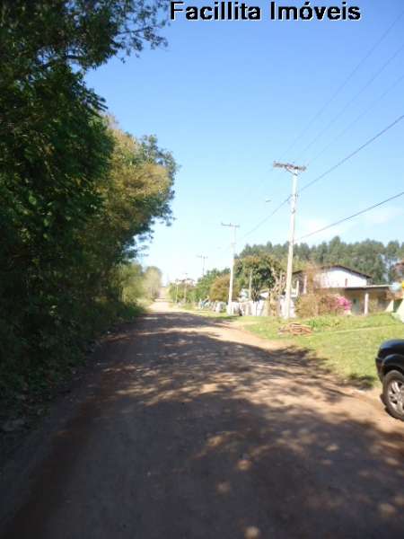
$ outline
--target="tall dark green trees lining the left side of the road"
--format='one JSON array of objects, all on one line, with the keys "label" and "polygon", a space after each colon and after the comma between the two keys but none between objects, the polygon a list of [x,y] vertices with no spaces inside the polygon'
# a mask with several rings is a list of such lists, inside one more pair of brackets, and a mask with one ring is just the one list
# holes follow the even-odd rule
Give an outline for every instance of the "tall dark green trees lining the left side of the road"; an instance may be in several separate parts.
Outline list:
[{"label": "tall dark green trees lining the left side of the road", "polygon": [[[14,0],[0,21],[0,393],[51,380],[110,323],[176,165],[103,117],[86,70],[163,43],[163,0]],[[46,376],[43,374],[46,373]]]}]

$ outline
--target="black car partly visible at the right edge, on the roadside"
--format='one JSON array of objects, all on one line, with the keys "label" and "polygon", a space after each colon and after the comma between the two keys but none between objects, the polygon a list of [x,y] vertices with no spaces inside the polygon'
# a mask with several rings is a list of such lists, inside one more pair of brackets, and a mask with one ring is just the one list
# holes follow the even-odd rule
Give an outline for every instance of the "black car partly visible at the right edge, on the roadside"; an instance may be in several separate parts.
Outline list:
[{"label": "black car partly visible at the right edge, on the roadside", "polygon": [[404,421],[404,340],[386,340],[376,358],[383,384],[383,402],[391,415]]}]

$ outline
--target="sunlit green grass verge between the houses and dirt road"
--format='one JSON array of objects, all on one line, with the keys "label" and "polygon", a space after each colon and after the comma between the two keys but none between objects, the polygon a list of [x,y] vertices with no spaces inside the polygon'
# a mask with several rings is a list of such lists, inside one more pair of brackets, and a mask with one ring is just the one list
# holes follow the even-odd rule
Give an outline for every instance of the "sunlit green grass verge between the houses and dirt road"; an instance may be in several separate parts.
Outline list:
[{"label": "sunlit green grass verge between the houses and dirt road", "polygon": [[245,330],[260,337],[282,340],[314,351],[344,380],[367,387],[378,384],[374,358],[381,342],[404,338],[404,325],[391,314],[319,316],[294,322],[310,325],[312,334],[296,337],[279,335],[278,330],[285,322],[268,317],[245,317],[240,321]]}]

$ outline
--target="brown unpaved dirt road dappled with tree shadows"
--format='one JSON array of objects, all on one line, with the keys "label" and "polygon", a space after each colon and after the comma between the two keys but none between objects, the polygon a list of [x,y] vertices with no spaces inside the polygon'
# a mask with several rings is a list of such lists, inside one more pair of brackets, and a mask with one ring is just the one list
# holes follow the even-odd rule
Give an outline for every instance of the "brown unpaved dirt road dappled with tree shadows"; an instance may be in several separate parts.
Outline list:
[{"label": "brown unpaved dirt road dappled with tree shadows", "polygon": [[295,349],[158,304],[4,471],[0,536],[404,536],[404,428]]}]

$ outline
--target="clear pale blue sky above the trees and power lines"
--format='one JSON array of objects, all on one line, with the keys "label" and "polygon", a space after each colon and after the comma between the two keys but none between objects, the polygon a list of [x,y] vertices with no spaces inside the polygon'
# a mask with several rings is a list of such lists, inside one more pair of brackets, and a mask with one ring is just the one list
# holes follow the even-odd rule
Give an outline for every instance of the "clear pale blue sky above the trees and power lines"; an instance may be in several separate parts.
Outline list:
[{"label": "clear pale blue sky above the trees and power lines", "polygon": [[[267,2],[250,4],[268,9]],[[160,267],[171,279],[184,272],[198,278],[198,254],[208,257],[207,268],[228,266],[230,230],[222,221],[241,225],[238,251],[245,243],[284,243],[287,206],[248,234],[290,192],[290,175],[274,171],[273,161],[309,163],[299,178],[303,186],[404,114],[402,17],[289,149],[404,9],[401,0],[353,4],[361,7],[360,22],[180,19],[164,31],[167,49],[145,50],[126,63],[114,59],[88,75],[122,128],[135,136],[155,134],[180,163],[175,221],[170,227],[155,225],[143,263]],[[403,190],[403,142],[404,121],[305,190],[298,200],[297,237]],[[403,200],[308,242],[335,234],[347,242],[403,241]]]}]

